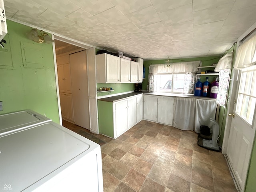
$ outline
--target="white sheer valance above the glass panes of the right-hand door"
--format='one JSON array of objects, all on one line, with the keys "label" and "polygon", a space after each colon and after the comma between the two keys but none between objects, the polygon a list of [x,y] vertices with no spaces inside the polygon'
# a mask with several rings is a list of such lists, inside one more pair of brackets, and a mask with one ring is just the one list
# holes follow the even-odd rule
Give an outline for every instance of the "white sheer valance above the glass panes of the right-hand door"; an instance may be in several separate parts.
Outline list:
[{"label": "white sheer valance above the glass panes of the right-hand door", "polygon": [[256,62],[256,35],[238,47],[235,69],[248,67]]}]

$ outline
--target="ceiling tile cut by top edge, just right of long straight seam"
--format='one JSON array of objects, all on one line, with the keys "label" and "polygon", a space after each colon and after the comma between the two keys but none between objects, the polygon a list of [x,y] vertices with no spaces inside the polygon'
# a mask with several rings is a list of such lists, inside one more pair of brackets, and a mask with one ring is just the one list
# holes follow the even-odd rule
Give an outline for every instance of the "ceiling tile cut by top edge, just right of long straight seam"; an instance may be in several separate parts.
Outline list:
[{"label": "ceiling tile cut by top edge, just right of long straight seam", "polygon": [[203,9],[214,8],[222,4],[230,4],[232,7],[235,1],[236,0],[193,0],[193,10],[196,12]]}]

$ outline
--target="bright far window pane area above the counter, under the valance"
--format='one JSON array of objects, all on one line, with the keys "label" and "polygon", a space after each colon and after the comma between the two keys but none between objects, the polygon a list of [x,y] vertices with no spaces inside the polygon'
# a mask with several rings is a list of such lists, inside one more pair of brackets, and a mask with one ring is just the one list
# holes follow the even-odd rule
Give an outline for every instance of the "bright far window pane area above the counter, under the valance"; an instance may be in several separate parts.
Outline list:
[{"label": "bright far window pane area above the counter, under the valance", "polygon": [[157,74],[156,91],[182,93],[185,74]]}]

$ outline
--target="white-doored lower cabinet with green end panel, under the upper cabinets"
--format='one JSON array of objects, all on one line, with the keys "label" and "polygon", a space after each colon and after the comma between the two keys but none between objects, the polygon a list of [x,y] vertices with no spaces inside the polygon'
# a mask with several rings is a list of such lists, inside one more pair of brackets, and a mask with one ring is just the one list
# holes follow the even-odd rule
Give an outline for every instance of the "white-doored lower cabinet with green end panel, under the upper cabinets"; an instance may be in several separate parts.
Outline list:
[{"label": "white-doored lower cabinet with green end panel, under the upper cabinets", "polygon": [[142,110],[142,94],[118,102],[98,100],[99,133],[117,138],[142,120]]}]

